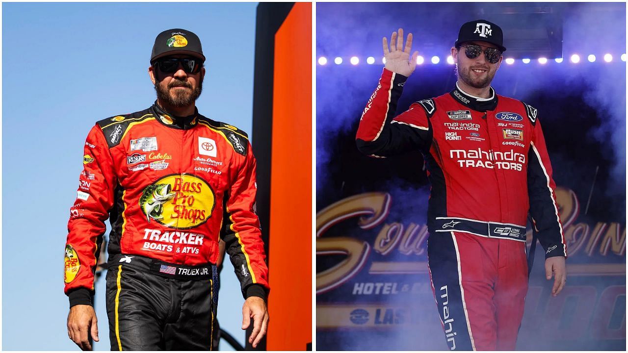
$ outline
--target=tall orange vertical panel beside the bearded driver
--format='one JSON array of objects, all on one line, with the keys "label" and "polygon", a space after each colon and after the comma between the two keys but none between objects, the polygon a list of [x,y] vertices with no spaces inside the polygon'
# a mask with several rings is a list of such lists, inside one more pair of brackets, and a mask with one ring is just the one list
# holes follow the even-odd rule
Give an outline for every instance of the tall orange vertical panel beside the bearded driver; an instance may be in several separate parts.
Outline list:
[{"label": "tall orange vertical panel beside the bearded driver", "polygon": [[312,342],[311,25],[295,3],[274,38],[268,350]]}]

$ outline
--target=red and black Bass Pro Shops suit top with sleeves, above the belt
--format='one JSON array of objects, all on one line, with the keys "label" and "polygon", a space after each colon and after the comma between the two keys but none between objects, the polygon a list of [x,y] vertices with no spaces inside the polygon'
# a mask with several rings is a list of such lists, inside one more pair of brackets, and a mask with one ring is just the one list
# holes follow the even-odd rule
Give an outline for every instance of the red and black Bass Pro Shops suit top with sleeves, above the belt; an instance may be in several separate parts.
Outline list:
[{"label": "red and black Bass Pro Shops suit top with sleeves, above the belt", "polygon": [[173,117],[154,104],[97,122],[83,164],[65,246],[70,306],[91,303],[108,217],[109,258],[215,264],[222,238],[243,295],[265,298],[268,268],[254,212],[256,160],[246,133],[198,111]]}]

